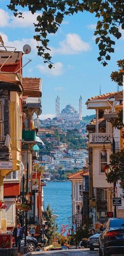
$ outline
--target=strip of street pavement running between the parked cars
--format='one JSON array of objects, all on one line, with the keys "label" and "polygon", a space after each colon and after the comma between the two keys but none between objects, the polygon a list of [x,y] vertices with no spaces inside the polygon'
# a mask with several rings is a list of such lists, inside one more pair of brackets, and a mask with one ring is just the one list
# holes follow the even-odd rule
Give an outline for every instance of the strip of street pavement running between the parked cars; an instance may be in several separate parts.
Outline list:
[{"label": "strip of street pavement running between the parked cars", "polygon": [[45,256],[46,254],[48,254],[49,256],[90,256],[90,255],[94,255],[94,256],[98,256],[98,250],[92,251],[90,252],[89,249],[77,249],[77,250],[62,250],[62,251],[46,251],[46,252],[33,252],[32,255],[42,255]]}]

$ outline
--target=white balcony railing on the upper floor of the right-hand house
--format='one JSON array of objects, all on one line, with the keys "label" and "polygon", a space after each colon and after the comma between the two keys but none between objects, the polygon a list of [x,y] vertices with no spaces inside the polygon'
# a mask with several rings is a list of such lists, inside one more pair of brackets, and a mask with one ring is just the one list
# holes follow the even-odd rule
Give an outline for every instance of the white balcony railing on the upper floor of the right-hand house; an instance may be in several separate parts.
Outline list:
[{"label": "white balcony railing on the upper floor of the right-hand house", "polygon": [[112,143],[112,134],[107,134],[105,132],[98,132],[89,134],[89,143],[104,143],[104,141],[108,140],[108,143]]}]

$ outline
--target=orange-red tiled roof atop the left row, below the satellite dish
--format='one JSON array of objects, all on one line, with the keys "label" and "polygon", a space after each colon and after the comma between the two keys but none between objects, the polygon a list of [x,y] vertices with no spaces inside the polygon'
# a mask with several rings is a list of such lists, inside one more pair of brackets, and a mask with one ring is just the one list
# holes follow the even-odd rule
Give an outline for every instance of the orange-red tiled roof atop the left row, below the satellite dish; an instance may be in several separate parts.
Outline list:
[{"label": "orange-red tiled roof atop the left row, below the satellite dish", "polygon": [[40,78],[23,78],[24,91],[41,91]]}]

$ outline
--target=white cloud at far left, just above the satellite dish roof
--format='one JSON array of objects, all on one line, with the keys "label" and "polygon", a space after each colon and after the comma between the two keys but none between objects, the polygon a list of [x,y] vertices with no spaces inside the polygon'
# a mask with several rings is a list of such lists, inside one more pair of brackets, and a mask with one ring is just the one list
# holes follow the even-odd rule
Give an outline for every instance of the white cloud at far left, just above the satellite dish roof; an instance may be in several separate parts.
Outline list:
[{"label": "white cloud at far left, just above the satellite dish roof", "polygon": [[[9,41],[8,36],[2,32],[0,32],[2,39],[4,41],[4,45],[15,47],[17,51],[23,51],[23,46],[25,44],[29,44],[32,50],[36,50],[37,42],[34,39],[22,39],[22,40],[14,40]],[[7,48],[9,50],[9,48]]]}]

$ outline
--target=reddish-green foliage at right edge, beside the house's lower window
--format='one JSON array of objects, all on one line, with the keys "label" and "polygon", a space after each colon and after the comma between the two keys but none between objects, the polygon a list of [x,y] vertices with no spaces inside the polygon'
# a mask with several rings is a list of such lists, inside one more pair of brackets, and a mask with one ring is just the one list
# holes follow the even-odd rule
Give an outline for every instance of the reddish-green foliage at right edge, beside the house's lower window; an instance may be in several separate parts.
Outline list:
[{"label": "reddish-green foliage at right edge, beside the house's lower window", "polygon": [[120,187],[124,192],[124,149],[110,155],[111,172],[107,175],[107,181],[114,183],[120,181]]}]

